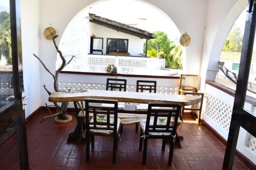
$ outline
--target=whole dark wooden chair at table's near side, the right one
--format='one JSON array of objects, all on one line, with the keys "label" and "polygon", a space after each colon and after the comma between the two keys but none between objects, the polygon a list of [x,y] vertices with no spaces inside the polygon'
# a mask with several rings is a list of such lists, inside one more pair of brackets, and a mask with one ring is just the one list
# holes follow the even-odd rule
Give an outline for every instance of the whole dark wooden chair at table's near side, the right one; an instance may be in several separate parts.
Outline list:
[{"label": "whole dark wooden chair at table's near side, the right one", "polygon": [[139,150],[143,144],[143,165],[146,164],[147,139],[163,139],[162,151],[165,150],[166,139],[170,141],[168,165],[172,165],[179,112],[180,105],[148,104],[147,117],[140,122]]}]

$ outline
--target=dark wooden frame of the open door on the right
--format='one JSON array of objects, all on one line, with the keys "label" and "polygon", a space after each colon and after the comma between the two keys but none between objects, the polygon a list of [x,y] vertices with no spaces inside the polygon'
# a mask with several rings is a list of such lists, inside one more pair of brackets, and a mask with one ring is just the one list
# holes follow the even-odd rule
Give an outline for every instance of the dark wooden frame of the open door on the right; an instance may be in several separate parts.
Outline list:
[{"label": "dark wooden frame of the open door on the right", "polygon": [[247,6],[247,16],[239,66],[237,89],[234,96],[234,105],[223,162],[223,170],[232,169],[240,127],[244,128],[254,137],[256,136],[256,117],[253,113],[244,108],[248,79],[250,74],[250,65],[255,36],[255,25],[256,1],[249,0]]}]

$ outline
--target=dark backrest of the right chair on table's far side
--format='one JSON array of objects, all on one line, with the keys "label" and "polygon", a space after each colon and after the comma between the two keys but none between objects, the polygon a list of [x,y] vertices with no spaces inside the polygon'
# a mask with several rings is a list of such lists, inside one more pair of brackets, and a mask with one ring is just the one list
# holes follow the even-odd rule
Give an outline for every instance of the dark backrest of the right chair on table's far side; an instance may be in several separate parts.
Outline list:
[{"label": "dark backrest of the right chair on table's far side", "polygon": [[137,80],[136,92],[150,91],[150,93],[157,92],[157,82],[147,80]]}]

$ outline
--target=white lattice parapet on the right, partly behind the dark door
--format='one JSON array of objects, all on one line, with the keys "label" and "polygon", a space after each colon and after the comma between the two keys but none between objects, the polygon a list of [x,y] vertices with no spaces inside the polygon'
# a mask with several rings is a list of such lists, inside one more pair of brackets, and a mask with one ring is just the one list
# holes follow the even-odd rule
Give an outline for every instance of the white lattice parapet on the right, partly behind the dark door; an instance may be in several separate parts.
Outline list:
[{"label": "white lattice parapet on the right, partly behind the dark door", "polygon": [[[227,140],[234,102],[234,90],[208,82],[205,89],[204,110],[202,119]],[[245,108],[256,114],[255,99],[247,97]],[[240,129],[237,150],[256,163],[256,138],[243,128]]]}]

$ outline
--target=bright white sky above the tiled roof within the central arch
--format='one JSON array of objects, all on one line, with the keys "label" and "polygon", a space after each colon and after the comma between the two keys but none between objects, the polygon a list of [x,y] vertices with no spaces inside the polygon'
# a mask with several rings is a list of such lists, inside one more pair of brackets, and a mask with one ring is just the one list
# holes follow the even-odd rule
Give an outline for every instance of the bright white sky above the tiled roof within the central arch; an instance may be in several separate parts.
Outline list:
[{"label": "bright white sky above the tiled roof within the central arch", "polygon": [[[89,13],[116,20],[145,31],[163,31],[170,40],[180,37],[175,23],[163,12],[134,0],[111,0],[93,5]],[[142,18],[142,19],[138,19]]]}]

